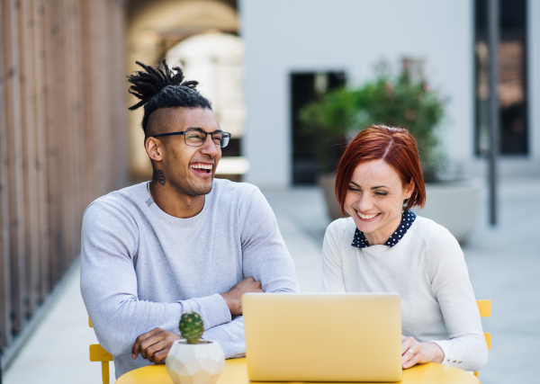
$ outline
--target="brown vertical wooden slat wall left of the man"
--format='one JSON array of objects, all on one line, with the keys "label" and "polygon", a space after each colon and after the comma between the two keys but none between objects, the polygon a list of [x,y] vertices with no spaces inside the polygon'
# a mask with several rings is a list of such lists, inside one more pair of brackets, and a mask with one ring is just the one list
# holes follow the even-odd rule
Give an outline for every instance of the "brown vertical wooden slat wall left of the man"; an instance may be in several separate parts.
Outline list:
[{"label": "brown vertical wooden slat wall left of the man", "polygon": [[0,344],[80,252],[86,206],[127,183],[124,2],[0,0]]}]

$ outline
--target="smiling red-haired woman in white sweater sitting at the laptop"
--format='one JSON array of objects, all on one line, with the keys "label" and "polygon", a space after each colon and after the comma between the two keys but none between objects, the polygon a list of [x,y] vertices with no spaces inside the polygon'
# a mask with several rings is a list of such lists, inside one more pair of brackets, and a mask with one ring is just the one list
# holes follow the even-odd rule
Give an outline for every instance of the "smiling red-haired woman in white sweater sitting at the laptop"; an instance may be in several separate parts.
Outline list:
[{"label": "smiling red-haired woman in white sweater sitting at the laptop", "polygon": [[336,195],[349,217],[326,231],[322,290],[398,292],[403,368],[439,362],[478,371],[488,346],[464,253],[446,228],[410,210],[426,201],[410,132],[361,131],[339,161]]}]

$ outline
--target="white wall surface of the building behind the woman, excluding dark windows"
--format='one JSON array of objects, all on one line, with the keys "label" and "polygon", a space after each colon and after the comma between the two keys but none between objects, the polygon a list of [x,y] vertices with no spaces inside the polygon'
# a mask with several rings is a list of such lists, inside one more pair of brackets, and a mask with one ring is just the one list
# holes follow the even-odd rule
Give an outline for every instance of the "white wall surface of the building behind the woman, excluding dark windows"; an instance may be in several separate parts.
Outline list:
[{"label": "white wall surface of the building behind the woman, excluding dark windows", "polygon": [[[360,84],[381,58],[427,59],[431,84],[448,97],[444,143],[465,174],[485,173],[474,156],[473,0],[240,0],[246,41],[247,182],[285,187],[292,180],[292,72],[345,70]],[[540,66],[540,2],[529,1],[529,68]],[[501,173],[536,172],[540,156],[538,71],[529,71],[531,156],[501,160]]]}]

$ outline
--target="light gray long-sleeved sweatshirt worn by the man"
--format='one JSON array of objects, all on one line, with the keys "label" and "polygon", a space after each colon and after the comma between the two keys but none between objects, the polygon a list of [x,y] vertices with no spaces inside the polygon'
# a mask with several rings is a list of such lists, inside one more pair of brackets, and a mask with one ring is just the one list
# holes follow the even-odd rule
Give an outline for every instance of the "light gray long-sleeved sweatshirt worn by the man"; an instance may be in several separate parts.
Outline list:
[{"label": "light gray long-sleeved sweatshirt worn by the man", "polygon": [[189,219],[150,197],[147,183],[111,192],[83,219],[81,292],[116,377],[150,364],[131,358],[137,336],[155,327],[178,333],[187,311],[201,314],[203,337],[227,358],[245,353],[243,318],[231,318],[220,293],[246,277],[266,292],[298,291],[293,259],[257,187],[216,179]]}]

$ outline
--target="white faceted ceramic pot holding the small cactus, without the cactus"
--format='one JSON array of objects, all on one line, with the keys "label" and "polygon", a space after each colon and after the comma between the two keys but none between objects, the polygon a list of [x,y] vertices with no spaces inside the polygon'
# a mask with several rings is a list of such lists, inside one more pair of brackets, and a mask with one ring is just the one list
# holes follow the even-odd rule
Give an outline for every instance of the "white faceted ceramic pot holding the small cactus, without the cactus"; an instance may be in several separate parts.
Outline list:
[{"label": "white faceted ceramic pot holding the small cactus, without the cactus", "polygon": [[220,344],[211,340],[201,340],[200,344],[177,340],[165,365],[175,384],[214,384],[225,368],[225,355]]}]

